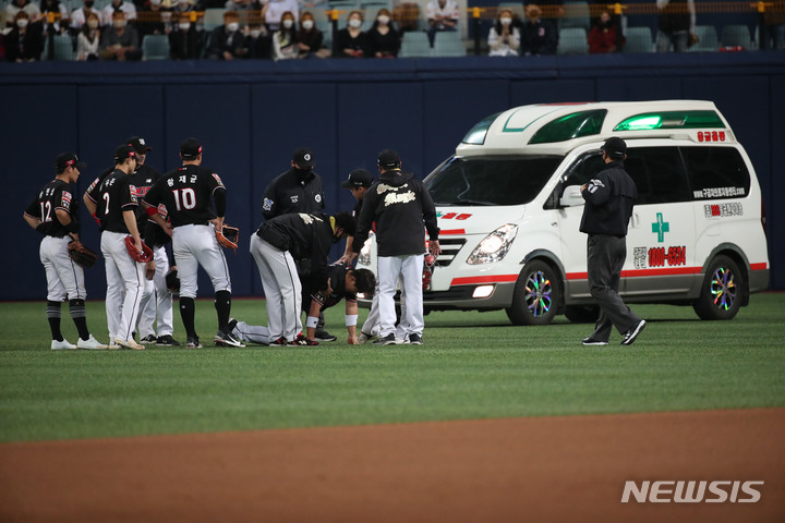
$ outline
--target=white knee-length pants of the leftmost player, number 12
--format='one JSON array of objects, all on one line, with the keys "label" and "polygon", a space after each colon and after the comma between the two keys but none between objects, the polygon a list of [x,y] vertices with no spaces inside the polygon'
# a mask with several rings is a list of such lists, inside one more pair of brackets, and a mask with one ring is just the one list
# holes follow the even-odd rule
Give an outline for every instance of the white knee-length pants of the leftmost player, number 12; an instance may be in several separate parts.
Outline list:
[{"label": "white knee-length pants of the leftmost player, number 12", "polygon": [[38,255],[47,275],[47,300],[63,302],[87,297],[84,284],[84,269],[71,260],[68,244],[71,236],[45,236]]}]

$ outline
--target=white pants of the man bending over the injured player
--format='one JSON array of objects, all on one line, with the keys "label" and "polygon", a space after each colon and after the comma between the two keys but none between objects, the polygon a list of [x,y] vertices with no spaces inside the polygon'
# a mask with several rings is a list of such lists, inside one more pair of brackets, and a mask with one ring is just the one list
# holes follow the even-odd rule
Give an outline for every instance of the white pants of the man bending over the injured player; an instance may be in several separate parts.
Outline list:
[{"label": "white pants of the man bending over the injured player", "polygon": [[251,255],[258,267],[265,291],[269,337],[277,340],[283,336],[293,341],[302,332],[302,283],[294,258],[288,251],[270,245],[257,234],[251,235]]}]

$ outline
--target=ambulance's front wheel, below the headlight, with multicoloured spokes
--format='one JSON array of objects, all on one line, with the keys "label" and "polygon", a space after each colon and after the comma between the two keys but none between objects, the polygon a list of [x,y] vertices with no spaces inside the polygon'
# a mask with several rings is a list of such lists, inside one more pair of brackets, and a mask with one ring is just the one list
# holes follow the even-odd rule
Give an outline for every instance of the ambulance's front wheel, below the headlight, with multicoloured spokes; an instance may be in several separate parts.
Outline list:
[{"label": "ambulance's front wheel, below the headlight, with multicoloured spokes", "polygon": [[547,325],[553,321],[564,296],[558,273],[545,262],[535,259],[518,276],[512,305],[505,311],[514,325]]}]

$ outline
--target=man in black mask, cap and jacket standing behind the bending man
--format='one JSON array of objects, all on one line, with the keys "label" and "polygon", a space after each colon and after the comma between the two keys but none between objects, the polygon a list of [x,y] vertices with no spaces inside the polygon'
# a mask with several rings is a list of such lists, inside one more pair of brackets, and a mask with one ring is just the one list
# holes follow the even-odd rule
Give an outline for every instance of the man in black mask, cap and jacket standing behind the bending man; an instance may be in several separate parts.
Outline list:
[{"label": "man in black mask, cap and jacket standing behind the bending man", "polygon": [[[315,214],[325,208],[322,178],[314,172],[314,154],[307,147],[294,151],[291,169],[275,178],[265,190],[262,215],[265,220],[294,212]],[[316,329],[319,341],[337,338],[324,330],[324,315],[319,315]]]}]

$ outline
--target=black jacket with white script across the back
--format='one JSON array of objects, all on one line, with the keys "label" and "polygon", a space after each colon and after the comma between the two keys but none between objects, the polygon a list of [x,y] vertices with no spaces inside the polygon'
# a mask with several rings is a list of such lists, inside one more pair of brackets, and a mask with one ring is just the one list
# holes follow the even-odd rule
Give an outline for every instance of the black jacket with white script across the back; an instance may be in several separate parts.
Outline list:
[{"label": "black jacket with white script across the back", "polygon": [[438,240],[436,206],[425,185],[411,172],[387,171],[363,196],[352,251],[360,252],[376,222],[379,256],[401,256],[425,252],[425,229]]}]

